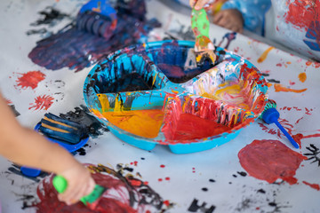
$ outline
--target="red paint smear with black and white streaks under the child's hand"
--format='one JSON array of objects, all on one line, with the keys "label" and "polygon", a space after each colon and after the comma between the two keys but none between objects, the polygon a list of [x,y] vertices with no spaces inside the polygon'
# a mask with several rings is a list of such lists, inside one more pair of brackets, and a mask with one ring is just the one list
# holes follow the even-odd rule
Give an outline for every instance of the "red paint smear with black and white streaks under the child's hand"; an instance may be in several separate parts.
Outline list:
[{"label": "red paint smear with black and white streaks under the child's hand", "polygon": [[57,192],[52,186],[52,177],[44,178],[37,188],[39,202],[34,204],[36,212],[108,212],[108,213],[138,213],[138,212],[165,212],[168,206],[164,205],[161,196],[140,179],[124,177],[116,170],[103,165],[87,165],[92,172],[95,182],[107,188],[100,198],[95,210],[88,209],[82,202],[68,206],[60,202]]}]

